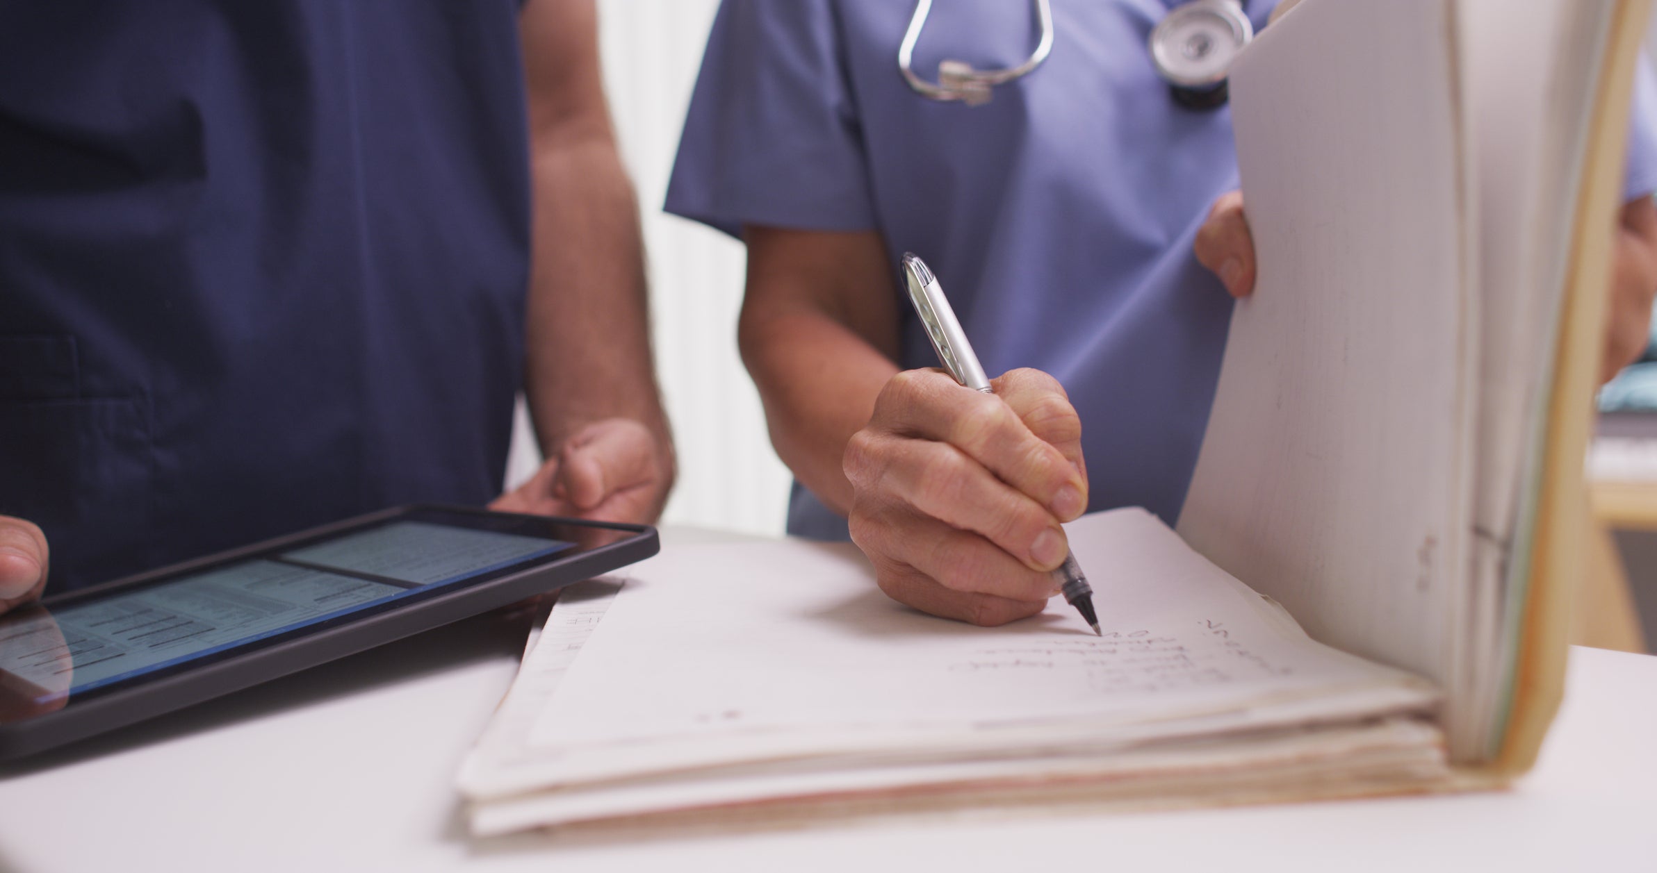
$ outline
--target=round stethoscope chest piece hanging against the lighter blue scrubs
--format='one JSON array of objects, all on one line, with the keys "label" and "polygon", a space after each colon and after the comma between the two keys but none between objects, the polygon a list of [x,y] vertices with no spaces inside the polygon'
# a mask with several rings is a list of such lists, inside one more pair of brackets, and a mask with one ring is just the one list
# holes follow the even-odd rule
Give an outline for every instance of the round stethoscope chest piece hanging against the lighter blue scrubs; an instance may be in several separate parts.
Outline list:
[{"label": "round stethoscope chest piece hanging against the lighter blue scrubs", "polygon": [[1168,12],[1150,33],[1157,73],[1188,109],[1215,109],[1226,101],[1226,71],[1254,38],[1254,23],[1236,0],[1191,0]]}]

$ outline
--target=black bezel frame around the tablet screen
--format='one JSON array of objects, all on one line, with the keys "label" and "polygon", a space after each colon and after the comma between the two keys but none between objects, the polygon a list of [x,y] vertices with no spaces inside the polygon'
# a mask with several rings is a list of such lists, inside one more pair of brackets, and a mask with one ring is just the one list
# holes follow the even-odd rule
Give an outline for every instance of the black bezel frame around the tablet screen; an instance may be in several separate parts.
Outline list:
[{"label": "black bezel frame around the tablet screen", "polygon": [[525,558],[524,562],[472,578],[434,585],[431,588],[414,588],[406,596],[378,603],[361,611],[282,631],[199,659],[71,694],[68,702],[55,712],[0,724],[0,760],[63,745],[451,621],[507,606],[524,598],[648,558],[659,550],[656,530],[645,525],[499,514],[436,504],[411,505],[346,518],[331,525],[207,555],[104,585],[48,596],[41,601],[41,606],[50,610],[114,593],[126,593],[133,588],[159,585],[181,575],[200,573],[227,563],[302,548],[398,520],[426,520],[454,527],[529,533],[570,542],[573,548]]}]

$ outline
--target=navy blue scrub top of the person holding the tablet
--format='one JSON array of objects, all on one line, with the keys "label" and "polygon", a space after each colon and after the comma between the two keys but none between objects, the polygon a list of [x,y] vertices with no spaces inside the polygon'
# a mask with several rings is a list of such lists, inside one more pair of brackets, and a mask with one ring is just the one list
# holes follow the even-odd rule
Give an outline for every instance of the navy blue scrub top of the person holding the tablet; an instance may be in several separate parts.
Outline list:
[{"label": "navy blue scrub top of the person holding the tablet", "polygon": [[515,0],[0,0],[0,514],[48,591],[499,492]]}]

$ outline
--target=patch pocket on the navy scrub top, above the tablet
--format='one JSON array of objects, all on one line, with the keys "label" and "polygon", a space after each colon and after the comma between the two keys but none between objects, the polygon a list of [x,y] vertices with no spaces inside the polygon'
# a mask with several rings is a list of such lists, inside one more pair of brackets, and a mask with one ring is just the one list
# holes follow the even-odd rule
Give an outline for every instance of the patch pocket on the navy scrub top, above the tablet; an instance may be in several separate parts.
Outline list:
[{"label": "patch pocket on the navy scrub top, above the tablet", "polygon": [[51,591],[141,568],[151,550],[149,406],[81,398],[71,336],[0,336],[0,515],[41,527]]}]

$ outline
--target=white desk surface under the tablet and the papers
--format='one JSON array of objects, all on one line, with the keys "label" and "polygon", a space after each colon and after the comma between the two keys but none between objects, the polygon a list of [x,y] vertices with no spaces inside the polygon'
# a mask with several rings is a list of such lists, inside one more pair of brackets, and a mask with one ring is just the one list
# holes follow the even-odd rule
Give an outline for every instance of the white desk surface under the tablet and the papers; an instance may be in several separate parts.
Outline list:
[{"label": "white desk surface under the tablet and the papers", "polygon": [[[1574,649],[1508,793],[795,833],[469,842],[451,787],[522,625],[482,618],[0,775],[0,870],[1654,870],[1657,658]],[[1155,865],[1155,866],[1152,866]]]}]

